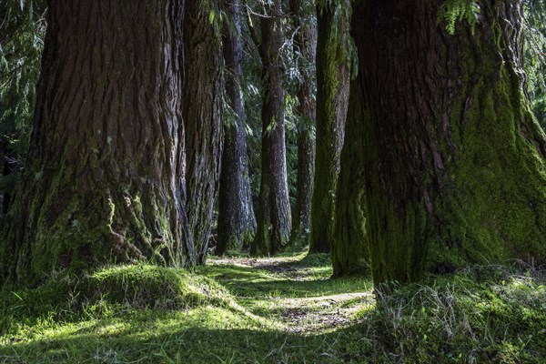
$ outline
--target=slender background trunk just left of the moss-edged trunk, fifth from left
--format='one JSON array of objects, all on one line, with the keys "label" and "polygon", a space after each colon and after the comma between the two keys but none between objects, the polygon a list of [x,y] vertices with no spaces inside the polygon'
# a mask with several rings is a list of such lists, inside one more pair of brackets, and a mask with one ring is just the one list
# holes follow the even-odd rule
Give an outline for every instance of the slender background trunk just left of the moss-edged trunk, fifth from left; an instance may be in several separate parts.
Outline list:
[{"label": "slender background trunk just left of the moss-edged trunk, fifth from left", "polygon": [[298,53],[299,73],[302,76],[298,89],[298,195],[290,234],[290,242],[295,247],[307,245],[311,227],[311,197],[315,174],[314,126],[317,109],[313,95],[317,53],[317,30],[312,24],[313,10],[311,1],[290,1],[290,13],[295,17],[294,25],[297,29],[294,45]]}]

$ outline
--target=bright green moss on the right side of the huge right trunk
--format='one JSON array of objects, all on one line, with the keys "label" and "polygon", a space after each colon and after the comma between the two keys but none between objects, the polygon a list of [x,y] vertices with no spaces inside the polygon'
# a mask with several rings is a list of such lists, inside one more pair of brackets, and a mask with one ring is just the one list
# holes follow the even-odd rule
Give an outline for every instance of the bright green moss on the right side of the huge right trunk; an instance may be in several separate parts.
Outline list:
[{"label": "bright green moss on the right side of the huge right trunk", "polygon": [[[467,64],[467,65],[471,65]],[[503,262],[546,259],[546,174],[537,148],[521,134],[527,101],[507,66],[480,72],[470,107],[461,99],[451,113],[457,146],[449,165],[449,204],[444,226],[431,242],[430,263]],[[486,81],[494,79],[494,86]],[[466,92],[463,92],[464,95]],[[462,115],[462,120],[461,120]],[[441,202],[439,204],[441,205]]]}]

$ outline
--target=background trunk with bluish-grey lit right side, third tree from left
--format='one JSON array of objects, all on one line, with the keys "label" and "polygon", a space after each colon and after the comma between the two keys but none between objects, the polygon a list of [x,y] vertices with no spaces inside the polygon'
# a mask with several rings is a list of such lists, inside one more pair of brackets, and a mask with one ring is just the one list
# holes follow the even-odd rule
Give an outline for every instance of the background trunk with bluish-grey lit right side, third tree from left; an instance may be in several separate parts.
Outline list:
[{"label": "background trunk with bluish-grey lit right side, third tree from left", "polygon": [[226,134],[218,197],[217,254],[225,253],[228,248],[249,247],[256,234],[241,89],[243,45],[239,0],[224,0],[224,9],[232,22],[232,26],[226,22],[223,32],[226,94],[231,112],[224,123]]}]

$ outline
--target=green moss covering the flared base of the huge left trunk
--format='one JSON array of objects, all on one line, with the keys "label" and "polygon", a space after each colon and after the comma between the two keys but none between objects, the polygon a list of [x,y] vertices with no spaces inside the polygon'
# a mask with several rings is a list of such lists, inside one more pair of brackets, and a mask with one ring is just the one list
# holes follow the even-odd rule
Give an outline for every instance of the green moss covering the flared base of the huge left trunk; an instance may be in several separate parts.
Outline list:
[{"label": "green moss covering the flared base of the huge left trunk", "polygon": [[29,197],[32,241],[25,236],[24,244],[6,253],[19,257],[3,262],[6,271],[14,268],[15,261],[17,279],[32,286],[57,270],[79,273],[110,262],[187,264],[181,243],[173,236],[167,207],[159,206],[153,191],[97,188],[88,192],[93,197],[84,197],[66,187],[64,174],[69,172],[48,176],[49,185],[38,187],[57,193],[46,194],[43,201],[41,190]]}]

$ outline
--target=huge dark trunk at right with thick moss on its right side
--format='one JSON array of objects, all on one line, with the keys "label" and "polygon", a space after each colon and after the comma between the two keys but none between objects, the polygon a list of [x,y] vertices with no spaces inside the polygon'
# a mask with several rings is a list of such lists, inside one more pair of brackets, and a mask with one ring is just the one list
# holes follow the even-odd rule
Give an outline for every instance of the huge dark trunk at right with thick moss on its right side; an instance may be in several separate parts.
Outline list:
[{"label": "huge dark trunk at right with thick moss on its right side", "polygon": [[546,142],[523,95],[521,4],[480,2],[475,33],[459,23],[453,36],[438,5],[355,5],[363,173],[352,183],[366,188],[376,282],[546,260]]}]

